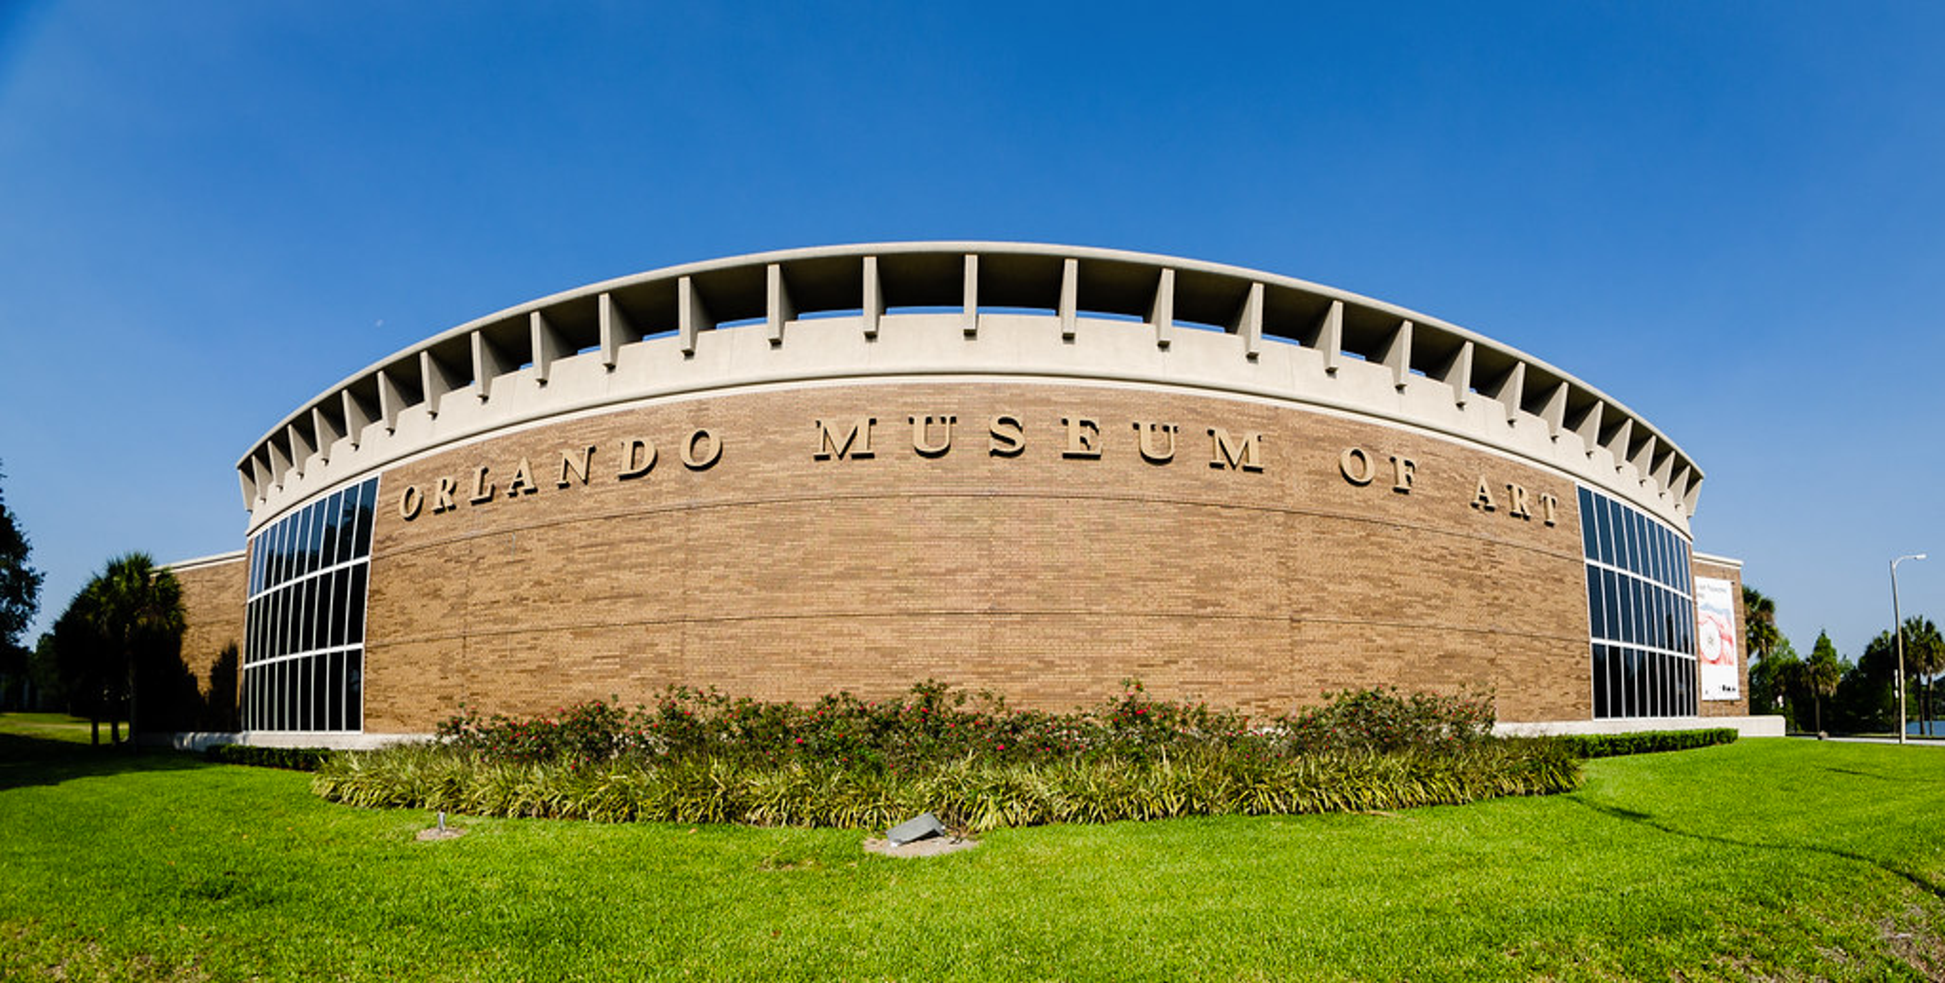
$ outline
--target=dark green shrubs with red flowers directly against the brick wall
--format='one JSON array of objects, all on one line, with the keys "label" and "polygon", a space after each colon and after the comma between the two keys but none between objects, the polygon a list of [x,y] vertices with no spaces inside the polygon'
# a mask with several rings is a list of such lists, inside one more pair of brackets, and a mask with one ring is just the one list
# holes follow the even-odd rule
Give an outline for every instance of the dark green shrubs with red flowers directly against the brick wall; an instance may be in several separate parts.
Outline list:
[{"label": "dark green shrubs with red flowers directly against the brick wall", "polygon": [[1315,751],[1443,749],[1476,746],[1492,732],[1486,697],[1437,697],[1395,689],[1338,693],[1321,707],[1253,722],[1204,703],[1151,699],[1140,681],[1097,709],[1019,710],[994,693],[965,693],[936,681],[906,699],[864,701],[850,693],[815,705],[729,699],[714,689],[671,687],[654,707],[615,703],[560,707],[539,718],[465,710],[440,724],[440,742],[488,761],[603,763],[704,755],[741,765],[829,761],[912,767],[926,761],[1046,763],[1114,757],[1151,761],[1202,747],[1247,747],[1270,757]]}]

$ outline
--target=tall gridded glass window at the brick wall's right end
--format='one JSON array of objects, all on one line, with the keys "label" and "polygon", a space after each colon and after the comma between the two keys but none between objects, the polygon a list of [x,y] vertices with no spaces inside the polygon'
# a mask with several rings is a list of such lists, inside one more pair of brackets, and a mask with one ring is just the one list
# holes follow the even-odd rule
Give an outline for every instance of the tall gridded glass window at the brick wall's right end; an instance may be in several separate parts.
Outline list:
[{"label": "tall gridded glass window at the brick wall's right end", "polygon": [[1593,648],[1593,714],[1694,716],[1696,613],[1688,539],[1579,489]]}]

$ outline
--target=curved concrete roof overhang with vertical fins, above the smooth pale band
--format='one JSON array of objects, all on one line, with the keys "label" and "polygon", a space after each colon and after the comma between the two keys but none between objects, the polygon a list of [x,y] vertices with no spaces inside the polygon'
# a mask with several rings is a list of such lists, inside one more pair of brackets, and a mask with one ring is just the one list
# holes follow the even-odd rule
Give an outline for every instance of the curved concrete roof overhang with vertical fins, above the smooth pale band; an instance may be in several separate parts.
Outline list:
[{"label": "curved concrete roof overhang with vertical fins, above the smooth pale band", "polygon": [[[371,422],[393,426],[405,407],[434,403],[467,385],[644,335],[677,331],[692,354],[698,331],[722,321],[768,319],[770,343],[801,313],[961,308],[969,335],[984,308],[1054,311],[1072,333],[1078,315],[1134,315],[1167,331],[1177,319],[1243,335],[1256,356],[1262,337],[1317,348],[1326,370],[1344,356],[1385,362],[1400,382],[1422,374],[1529,413],[1554,434],[1574,430],[1591,448],[1630,461],[1692,512],[1702,469],[1644,417],[1566,370],[1476,331],[1381,300],[1223,263],[1076,245],[1008,241],[904,241],[778,249],[617,276],[517,304],[442,331],[368,364],[265,432],[237,461],[245,506],[268,481],[301,471],[309,454]],[[626,325],[626,327],[613,327]],[[634,325],[640,325],[636,329]],[[455,364],[457,362],[457,364]]]}]

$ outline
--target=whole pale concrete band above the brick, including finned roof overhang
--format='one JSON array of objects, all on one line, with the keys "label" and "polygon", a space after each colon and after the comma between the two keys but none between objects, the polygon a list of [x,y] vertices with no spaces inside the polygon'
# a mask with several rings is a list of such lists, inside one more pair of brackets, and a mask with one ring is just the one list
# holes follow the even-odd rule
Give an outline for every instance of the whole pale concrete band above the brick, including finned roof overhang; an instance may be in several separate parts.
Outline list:
[{"label": "whole pale concrete band above the brick, including finned roof overhang", "polygon": [[237,479],[255,529],[336,483],[506,426],[891,376],[1192,387],[1375,417],[1562,469],[1680,529],[1702,487],[1702,469],[1626,405],[1435,317],[1241,267],[982,241],[755,253],[508,308],[325,389],[237,461]]}]

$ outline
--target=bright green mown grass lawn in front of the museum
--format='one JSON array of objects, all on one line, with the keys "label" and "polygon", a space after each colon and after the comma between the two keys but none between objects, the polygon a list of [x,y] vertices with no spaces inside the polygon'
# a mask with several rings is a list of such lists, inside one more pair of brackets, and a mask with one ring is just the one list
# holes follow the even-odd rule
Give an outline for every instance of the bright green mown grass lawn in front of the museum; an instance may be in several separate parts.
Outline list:
[{"label": "bright green mown grass lawn in front of the museum", "polygon": [[0,979],[1945,975],[1929,747],[1752,740],[1589,761],[1552,798],[893,860],[827,829],[455,819],[418,843],[428,814],[333,806],[300,773],[16,720]]}]

